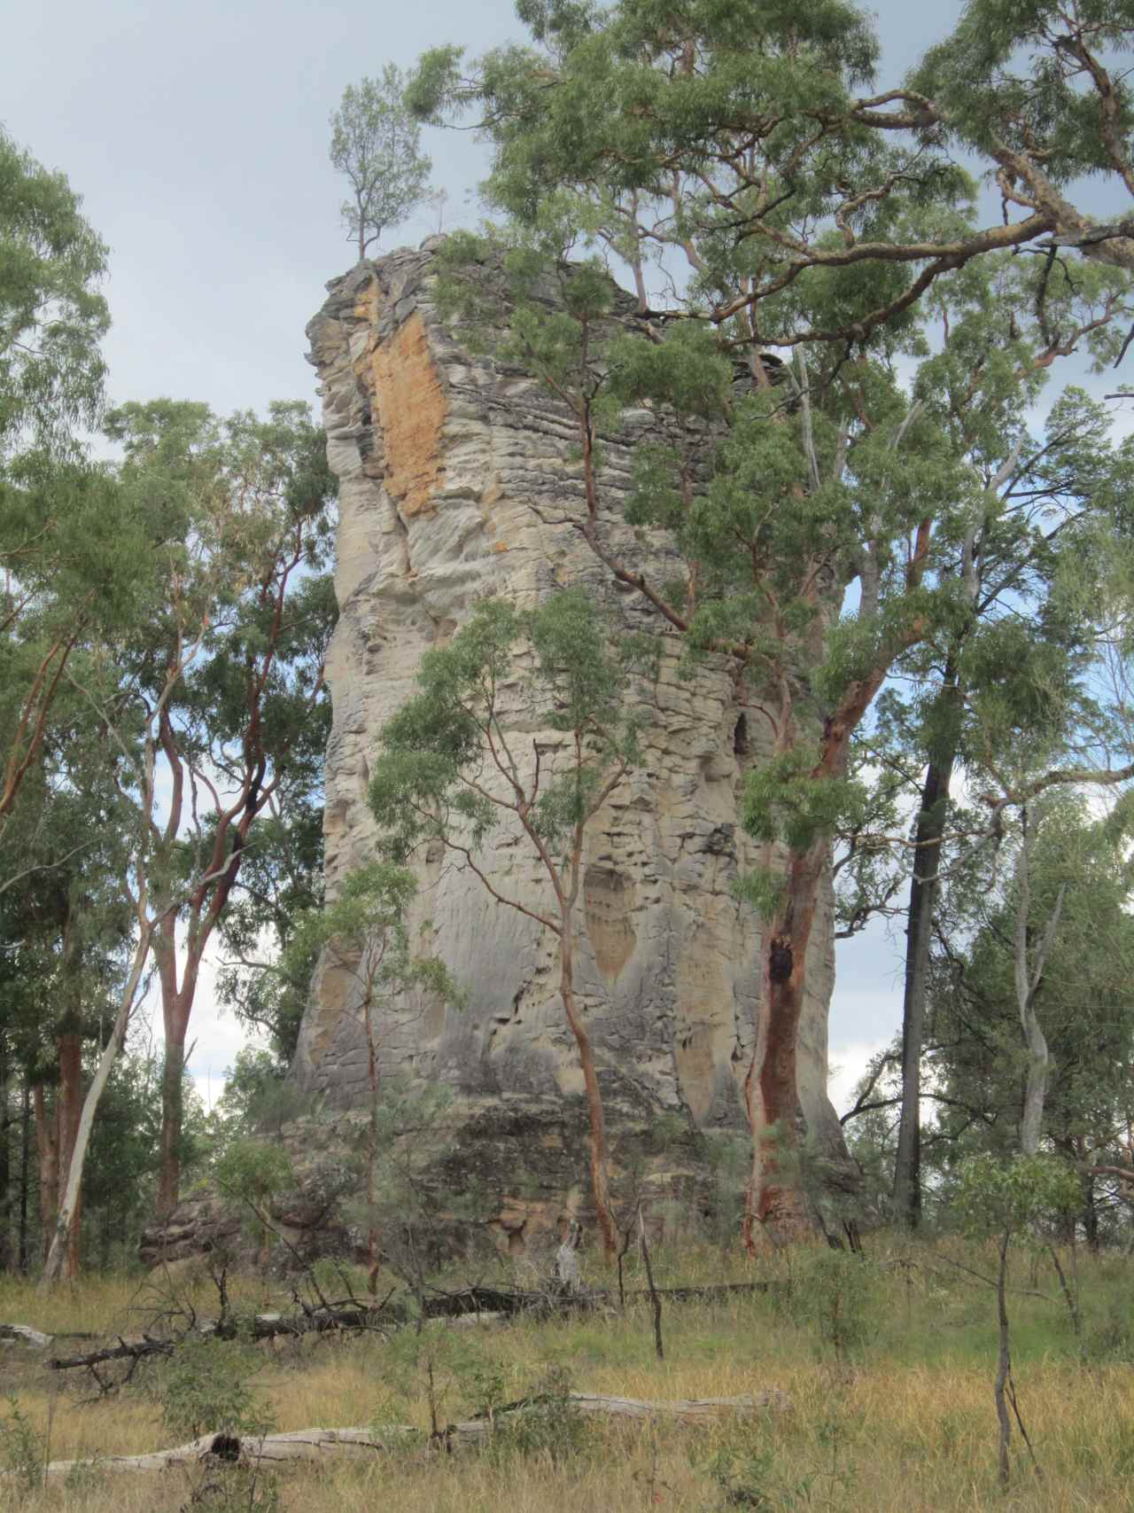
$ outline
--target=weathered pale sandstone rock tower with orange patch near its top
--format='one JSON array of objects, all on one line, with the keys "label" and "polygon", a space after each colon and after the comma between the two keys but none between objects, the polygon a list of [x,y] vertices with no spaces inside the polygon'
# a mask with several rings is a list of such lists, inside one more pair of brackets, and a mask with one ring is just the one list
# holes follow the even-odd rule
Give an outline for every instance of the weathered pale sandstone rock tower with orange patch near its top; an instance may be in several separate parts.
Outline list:
[{"label": "weathered pale sandstone rock tower with orange patch near its top", "polygon": [[[426,242],[360,263],[328,286],[308,325],[340,486],[340,619],[327,666],[331,894],[373,855],[366,790],[378,732],[411,694],[423,652],[443,645],[478,599],[532,604],[585,586],[626,628],[661,634],[573,523],[584,496],[570,416],[525,372],[470,356],[460,328],[438,321],[434,250]],[[665,575],[661,537],[635,539],[618,508],[631,451],[656,424],[643,410],[606,439],[602,533],[635,566]],[[738,808],[762,732],[723,660],[692,672],[679,661],[676,637],[665,637],[646,696],[646,761],[588,837],[576,980],[615,1160],[620,1141],[638,1139],[662,1114],[688,1132],[745,1127],[741,1082],[756,1033],[761,935],[732,890],[758,861]],[[502,893],[531,897],[546,887],[511,835],[500,834],[482,864]],[[419,876],[414,927],[429,921],[429,950],[469,999],[460,1011],[396,1005],[381,1032],[383,1071],[452,1086],[466,1120],[463,1156],[508,1224],[532,1207],[585,1209],[582,1079],[555,993],[553,940],[449,861],[425,859]],[[830,908],[812,952],[798,1091],[809,1129],[838,1147],[826,1095]],[[296,1055],[301,1086],[340,1108],[366,1097],[357,991],[348,971],[321,971]],[[655,1180],[691,1179],[692,1145],[682,1153],[679,1141],[647,1165]]]}]

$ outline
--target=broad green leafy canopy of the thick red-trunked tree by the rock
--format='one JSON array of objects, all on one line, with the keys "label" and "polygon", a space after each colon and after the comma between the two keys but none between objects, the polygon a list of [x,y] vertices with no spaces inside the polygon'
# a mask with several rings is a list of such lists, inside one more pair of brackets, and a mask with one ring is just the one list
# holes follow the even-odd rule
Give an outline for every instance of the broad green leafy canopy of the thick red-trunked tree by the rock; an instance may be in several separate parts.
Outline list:
[{"label": "broad green leafy canopy of the thick red-trunked tree by the rock", "polygon": [[[1027,457],[1021,407],[1052,357],[1078,345],[1095,363],[1114,360],[1126,281],[1098,262],[1052,278],[1051,262],[984,242],[984,256],[950,254],[915,287],[925,254],[900,248],[974,238],[974,186],[937,141],[903,138],[894,115],[856,98],[877,50],[850,6],[809,6],[804,17],[694,5],[662,17],[652,6],[534,3],[520,18],[532,47],[473,64],[437,48],[410,88],[422,117],[481,112],[494,147],[488,194],[510,216],[503,231],[454,242],[449,307],[567,405],[585,461],[600,464],[597,418],[612,421],[627,404],[665,413],[664,439],[635,448],[627,520],[671,534],[683,573],[653,584],[650,602],[661,589],[691,654],[742,664],[779,744],[774,779],[751,779],[748,828],[795,853],[859,834],[866,797],[845,776],[842,747],[891,669],[948,663],[977,604],[986,613],[998,595],[1051,583],[1063,534],[1049,528],[1052,513],[1074,516],[1075,469],[1060,463],[1075,449],[1080,463],[1090,457],[1086,430],[1064,425],[1075,401],[1060,405],[1048,445],[1007,493],[993,499],[990,486]],[[1031,24],[1013,12],[1004,35],[1031,35]],[[1117,36],[1113,18],[1101,27]],[[1125,85],[1116,88],[1125,100]],[[1070,95],[1055,115],[1067,110]],[[596,244],[632,265],[640,304],[644,260],[656,256],[662,303],[694,319],[655,322],[650,342],[618,330],[608,319],[618,309],[612,284],[594,257],[578,260]],[[511,310],[503,334],[500,294]],[[845,351],[824,345],[842,336]],[[777,340],[797,343],[791,365],[767,356]],[[753,375],[747,393],[736,392],[736,354]],[[897,378],[900,357],[916,363],[909,387]],[[770,371],[771,387],[758,380]],[[1077,552],[1067,539],[1064,572],[1083,561],[1083,545]],[[995,564],[998,583],[992,593],[980,584],[974,599],[975,561],[981,575]],[[1070,573],[1064,581],[1064,613],[1048,617],[1039,645],[1005,613],[972,638],[983,705],[969,723],[975,738],[980,722],[986,750],[1009,729],[1034,731],[1037,720],[1054,729],[1083,707]],[[859,881],[856,914],[888,897],[881,878]]]}]

